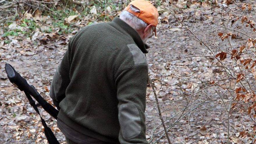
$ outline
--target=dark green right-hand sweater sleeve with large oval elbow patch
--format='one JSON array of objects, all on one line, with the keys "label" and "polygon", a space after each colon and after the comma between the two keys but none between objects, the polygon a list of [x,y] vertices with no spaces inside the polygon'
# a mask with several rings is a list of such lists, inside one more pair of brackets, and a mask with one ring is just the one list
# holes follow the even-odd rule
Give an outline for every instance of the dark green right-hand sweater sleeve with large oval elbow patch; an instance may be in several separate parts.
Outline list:
[{"label": "dark green right-hand sweater sleeve with large oval elbow patch", "polygon": [[148,144],[145,131],[146,63],[123,70],[116,78],[121,144]]}]

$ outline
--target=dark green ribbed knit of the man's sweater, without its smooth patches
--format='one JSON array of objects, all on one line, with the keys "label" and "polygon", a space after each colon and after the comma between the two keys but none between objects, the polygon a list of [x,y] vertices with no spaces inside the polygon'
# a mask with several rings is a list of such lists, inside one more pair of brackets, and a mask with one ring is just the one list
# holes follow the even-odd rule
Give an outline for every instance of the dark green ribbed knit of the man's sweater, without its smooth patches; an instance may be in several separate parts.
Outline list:
[{"label": "dark green ribbed knit of the man's sweater, without its smooth patches", "polygon": [[[147,53],[138,33],[119,18],[86,26],[70,40],[59,67],[67,83],[62,84],[65,96],[53,99],[60,102],[59,119],[74,129],[86,128],[122,144],[147,143],[144,112],[148,68],[147,63],[134,64],[128,44],[136,44]],[[130,140],[122,138],[118,120],[118,106],[125,103],[135,104],[142,120],[141,134]]]}]

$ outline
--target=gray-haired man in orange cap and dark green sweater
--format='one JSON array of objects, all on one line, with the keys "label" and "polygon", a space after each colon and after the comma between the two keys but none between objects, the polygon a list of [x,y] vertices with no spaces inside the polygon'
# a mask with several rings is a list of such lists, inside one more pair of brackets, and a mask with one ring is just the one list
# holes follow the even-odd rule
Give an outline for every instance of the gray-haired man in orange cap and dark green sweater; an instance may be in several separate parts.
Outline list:
[{"label": "gray-haired man in orange cap and dark green sweater", "polygon": [[67,143],[148,143],[143,53],[158,16],[149,1],[135,0],[120,18],[86,26],[71,38],[50,90]]}]

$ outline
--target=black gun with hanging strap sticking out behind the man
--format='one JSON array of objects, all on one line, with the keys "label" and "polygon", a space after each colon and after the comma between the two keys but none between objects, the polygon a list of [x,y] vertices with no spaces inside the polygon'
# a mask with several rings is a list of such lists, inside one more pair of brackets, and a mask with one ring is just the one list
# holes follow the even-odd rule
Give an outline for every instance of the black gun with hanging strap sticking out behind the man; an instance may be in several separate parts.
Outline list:
[{"label": "black gun with hanging strap sticking out behind the man", "polygon": [[[49,142],[49,144],[59,144],[56,137],[54,136],[51,129],[46,125],[45,120],[41,117],[38,106],[42,106],[42,108],[49,113],[52,117],[54,117],[57,120],[57,115],[59,111],[55,109],[51,104],[49,104],[35,89],[33,85],[29,85],[26,79],[24,79],[10,64],[5,64],[5,71],[7,74],[8,79],[11,83],[13,83],[14,86],[16,86],[19,90],[24,91],[26,97],[29,99],[29,104],[35,109],[35,111],[38,113],[38,115],[41,118],[42,124],[45,128],[45,136]],[[35,98],[35,100],[38,102],[38,104],[35,104],[35,101],[32,99],[32,97]]]}]

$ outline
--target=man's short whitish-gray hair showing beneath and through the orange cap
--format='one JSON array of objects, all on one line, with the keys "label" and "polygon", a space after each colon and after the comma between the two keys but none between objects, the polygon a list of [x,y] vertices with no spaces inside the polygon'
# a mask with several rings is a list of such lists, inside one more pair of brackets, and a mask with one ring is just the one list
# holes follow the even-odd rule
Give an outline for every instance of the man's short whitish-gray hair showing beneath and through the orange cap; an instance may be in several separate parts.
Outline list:
[{"label": "man's short whitish-gray hair showing beneath and through the orange cap", "polygon": [[[140,10],[134,7],[133,5],[130,5],[130,9],[136,13],[140,13]],[[143,20],[129,13],[126,10],[122,11],[119,17],[135,30],[145,29],[148,26],[148,24],[145,23]],[[154,26],[152,27],[151,31],[153,30],[154,30]]]}]

